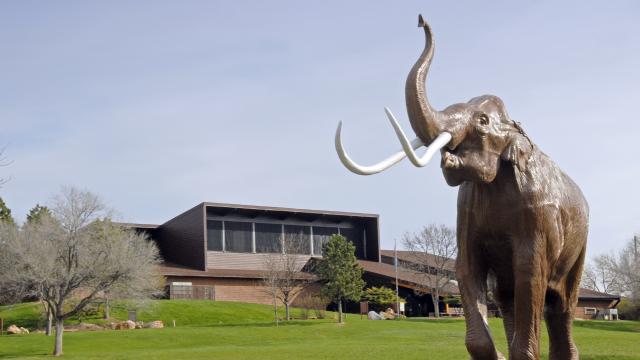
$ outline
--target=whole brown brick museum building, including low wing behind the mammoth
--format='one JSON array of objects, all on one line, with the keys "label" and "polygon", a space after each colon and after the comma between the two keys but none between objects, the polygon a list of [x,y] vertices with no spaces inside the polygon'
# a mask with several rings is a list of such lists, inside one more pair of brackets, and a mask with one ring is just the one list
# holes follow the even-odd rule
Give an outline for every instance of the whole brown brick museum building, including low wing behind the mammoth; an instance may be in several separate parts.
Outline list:
[{"label": "whole brown brick museum building, including low wing behind the mammoth", "polygon": [[[322,247],[332,234],[343,235],[355,245],[369,286],[395,287],[394,252],[380,249],[377,214],[201,203],[160,225],[126,225],[157,243],[164,259],[160,272],[171,298],[270,304],[272,299],[261,283],[265,258],[274,253],[294,254],[300,280],[313,282],[314,276],[305,267],[322,257]],[[288,249],[285,239],[289,236],[297,236],[302,246]],[[407,315],[427,316],[434,304],[424,290],[433,281],[429,274],[413,270],[412,259],[411,252],[398,251],[400,296],[407,300]],[[459,294],[455,261],[447,263],[446,271],[453,281],[441,295]],[[318,284],[305,290],[310,294],[318,291]],[[617,296],[581,289],[576,317],[594,318],[618,301]],[[445,310],[444,304],[438,306]]]}]

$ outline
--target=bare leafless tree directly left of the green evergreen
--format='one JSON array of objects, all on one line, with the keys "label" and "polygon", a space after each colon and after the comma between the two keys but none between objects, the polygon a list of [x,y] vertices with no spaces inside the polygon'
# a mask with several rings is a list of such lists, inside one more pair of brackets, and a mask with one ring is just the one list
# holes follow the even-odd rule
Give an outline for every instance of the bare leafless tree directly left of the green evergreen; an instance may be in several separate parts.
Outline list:
[{"label": "bare leafless tree directly left of the green evergreen", "polygon": [[[301,256],[309,250],[309,241],[302,234],[290,234],[284,239],[285,251],[281,254],[265,256],[263,285],[265,291],[274,299],[274,312],[277,322],[277,301],[285,307],[286,320],[291,319],[291,302],[308,283],[302,272],[304,262]],[[305,251],[306,249],[306,251]]]}]

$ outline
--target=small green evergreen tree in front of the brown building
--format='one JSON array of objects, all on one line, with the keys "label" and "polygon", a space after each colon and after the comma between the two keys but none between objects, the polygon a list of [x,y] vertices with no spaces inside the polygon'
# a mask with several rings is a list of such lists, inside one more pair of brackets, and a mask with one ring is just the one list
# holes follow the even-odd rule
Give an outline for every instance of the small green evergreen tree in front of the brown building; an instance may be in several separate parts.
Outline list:
[{"label": "small green evergreen tree in front of the brown building", "polygon": [[344,236],[333,235],[324,247],[317,274],[324,281],[322,293],[338,303],[338,322],[342,323],[342,301],[358,301],[364,288],[363,270],[355,256],[355,246]]}]

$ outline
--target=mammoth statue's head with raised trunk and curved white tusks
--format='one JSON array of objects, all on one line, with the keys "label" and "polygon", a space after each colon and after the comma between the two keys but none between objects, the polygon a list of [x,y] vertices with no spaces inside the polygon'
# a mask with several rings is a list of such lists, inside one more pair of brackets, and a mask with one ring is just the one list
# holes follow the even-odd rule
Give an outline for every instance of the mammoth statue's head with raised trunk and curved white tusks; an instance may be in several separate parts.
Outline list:
[{"label": "mammoth statue's head with raised trunk and curved white tusks", "polygon": [[[441,151],[442,171],[451,186],[464,181],[492,182],[501,161],[511,162],[516,169],[524,171],[533,144],[522,128],[509,118],[500,98],[479,96],[442,111],[431,107],[425,81],[433,58],[433,37],[431,28],[422,16],[419,17],[418,26],[424,28],[425,48],[411,69],[405,87],[407,113],[417,137],[409,141],[394,115],[385,108],[402,151],[375,165],[361,166],[351,160],[344,150],[340,123],[335,145],[342,163],[356,174],[371,175],[386,170],[405,157],[416,166],[425,166],[436,152]],[[426,152],[418,156],[415,150],[422,146],[426,146]]]}]

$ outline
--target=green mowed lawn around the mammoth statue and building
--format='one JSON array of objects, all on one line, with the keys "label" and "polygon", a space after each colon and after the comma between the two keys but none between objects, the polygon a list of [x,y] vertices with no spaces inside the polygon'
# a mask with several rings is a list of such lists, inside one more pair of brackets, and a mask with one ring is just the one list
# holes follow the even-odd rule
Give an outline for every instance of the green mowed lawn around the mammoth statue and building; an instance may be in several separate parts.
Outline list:
[{"label": "green mowed lawn around the mammoth statue and building", "polygon": [[[29,314],[25,308],[7,311]],[[121,310],[118,310],[123,315]],[[126,317],[126,314],[124,314]],[[148,317],[148,318],[147,318]],[[162,319],[176,328],[66,333],[70,359],[466,359],[464,321],[296,320],[276,327],[269,306],[159,301],[139,313],[145,321]],[[500,319],[491,319],[499,349],[506,353]],[[544,333],[544,332],[543,332]],[[640,359],[639,322],[576,321],[581,359]],[[41,334],[0,337],[0,358],[41,358],[53,338]],[[548,341],[543,335],[543,358]]]}]

